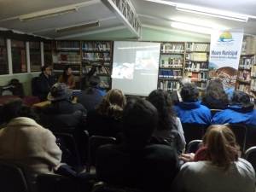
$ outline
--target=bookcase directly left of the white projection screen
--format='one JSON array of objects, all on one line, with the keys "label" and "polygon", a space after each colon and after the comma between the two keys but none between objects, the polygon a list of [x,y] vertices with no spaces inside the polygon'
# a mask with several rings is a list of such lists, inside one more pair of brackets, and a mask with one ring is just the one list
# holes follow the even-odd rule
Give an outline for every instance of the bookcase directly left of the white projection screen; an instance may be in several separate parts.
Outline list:
[{"label": "bookcase directly left of the white projection screen", "polygon": [[82,41],[82,73],[96,67],[103,90],[111,89],[112,50],[113,41]]}]

